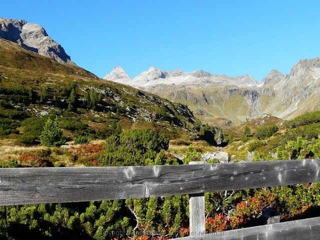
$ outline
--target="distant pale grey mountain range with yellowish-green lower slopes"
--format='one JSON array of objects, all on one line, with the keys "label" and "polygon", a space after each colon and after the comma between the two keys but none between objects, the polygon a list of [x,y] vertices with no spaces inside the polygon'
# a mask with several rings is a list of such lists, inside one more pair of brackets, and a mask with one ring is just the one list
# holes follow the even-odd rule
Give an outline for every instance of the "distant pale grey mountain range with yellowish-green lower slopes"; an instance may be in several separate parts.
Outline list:
[{"label": "distant pale grey mountain range with yellowish-green lower slopes", "polygon": [[289,119],[320,108],[320,58],[297,62],[287,75],[277,70],[258,82],[250,75],[230,77],[203,70],[165,71],[151,66],[131,79],[121,66],[104,79],[131,85],[181,102],[195,116],[215,124],[241,123],[263,113]]}]

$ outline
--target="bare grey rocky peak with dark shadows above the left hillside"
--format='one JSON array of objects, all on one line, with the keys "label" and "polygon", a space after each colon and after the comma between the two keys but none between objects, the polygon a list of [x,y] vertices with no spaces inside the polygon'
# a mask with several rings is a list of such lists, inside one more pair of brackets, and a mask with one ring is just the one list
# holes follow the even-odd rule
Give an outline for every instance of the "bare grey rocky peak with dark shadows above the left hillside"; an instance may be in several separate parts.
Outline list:
[{"label": "bare grey rocky peak with dark shadows above the left hillside", "polygon": [[57,62],[74,64],[63,47],[49,37],[45,29],[38,24],[0,17],[0,37],[14,41],[43,56],[51,57]]}]

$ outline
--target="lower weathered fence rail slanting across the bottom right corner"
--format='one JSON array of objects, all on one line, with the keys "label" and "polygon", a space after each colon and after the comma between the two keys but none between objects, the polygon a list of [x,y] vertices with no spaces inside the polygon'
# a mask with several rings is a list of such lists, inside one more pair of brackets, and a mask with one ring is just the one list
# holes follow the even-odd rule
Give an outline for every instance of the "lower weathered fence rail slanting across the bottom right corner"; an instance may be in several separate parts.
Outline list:
[{"label": "lower weathered fence rail slanting across the bottom right corner", "polygon": [[180,240],[317,240],[320,237],[320,217],[286,221],[222,232],[206,233],[202,236],[176,238]]}]

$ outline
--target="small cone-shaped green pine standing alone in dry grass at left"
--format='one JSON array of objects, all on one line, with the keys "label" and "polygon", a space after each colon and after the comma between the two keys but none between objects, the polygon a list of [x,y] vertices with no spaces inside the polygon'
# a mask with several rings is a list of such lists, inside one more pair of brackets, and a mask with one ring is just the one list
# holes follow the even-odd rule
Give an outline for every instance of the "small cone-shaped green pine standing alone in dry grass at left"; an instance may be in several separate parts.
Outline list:
[{"label": "small cone-shaped green pine standing alone in dry grass at left", "polygon": [[40,135],[40,141],[43,146],[59,146],[66,140],[61,128],[55,120],[48,118]]}]

